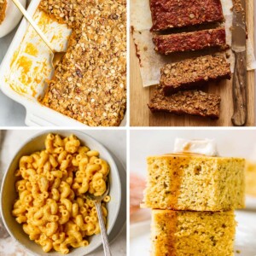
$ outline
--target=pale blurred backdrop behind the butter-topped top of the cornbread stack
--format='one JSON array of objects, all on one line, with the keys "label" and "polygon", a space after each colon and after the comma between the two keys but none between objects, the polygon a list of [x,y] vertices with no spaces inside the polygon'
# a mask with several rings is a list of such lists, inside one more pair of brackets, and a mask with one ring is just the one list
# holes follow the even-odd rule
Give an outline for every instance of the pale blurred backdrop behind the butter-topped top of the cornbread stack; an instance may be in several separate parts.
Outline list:
[{"label": "pale blurred backdrop behind the butter-topped top of the cornbread stack", "polygon": [[[131,172],[146,176],[146,158],[155,154],[173,152],[176,137],[186,139],[213,138],[220,156],[244,157],[251,154],[256,144],[256,131],[244,130],[172,130],[172,131],[131,131]],[[256,160],[256,159],[255,159]]]}]

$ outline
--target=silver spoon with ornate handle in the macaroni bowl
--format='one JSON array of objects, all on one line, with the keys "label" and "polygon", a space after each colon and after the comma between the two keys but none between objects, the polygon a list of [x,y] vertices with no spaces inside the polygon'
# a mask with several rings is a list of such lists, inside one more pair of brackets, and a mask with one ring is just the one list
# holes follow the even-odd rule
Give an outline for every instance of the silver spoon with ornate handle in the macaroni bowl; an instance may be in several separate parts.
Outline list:
[{"label": "silver spoon with ornate handle in the macaroni bowl", "polygon": [[103,215],[102,215],[102,200],[106,195],[108,195],[108,191],[109,191],[108,180],[106,181],[106,185],[107,185],[107,189],[103,195],[95,196],[95,195],[92,195],[89,192],[87,192],[85,194],[85,196],[88,196],[90,198],[90,200],[94,201],[94,203],[95,203],[96,211],[97,211],[98,218],[99,218],[99,224],[100,224],[100,228],[101,228],[104,253],[105,253],[105,256],[111,256],[112,254],[110,252],[110,247],[109,247],[109,242],[108,242],[108,234],[107,234],[107,230],[106,230]]}]

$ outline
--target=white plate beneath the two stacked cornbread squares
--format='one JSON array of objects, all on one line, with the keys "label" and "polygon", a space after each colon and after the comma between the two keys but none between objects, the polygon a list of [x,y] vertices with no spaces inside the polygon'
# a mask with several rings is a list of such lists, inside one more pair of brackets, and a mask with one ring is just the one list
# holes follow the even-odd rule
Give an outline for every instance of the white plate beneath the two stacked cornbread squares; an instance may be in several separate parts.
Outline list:
[{"label": "white plate beneath the two stacked cornbread squares", "polygon": [[[256,212],[236,212],[236,256],[256,256]],[[130,255],[150,255],[150,221],[130,227]],[[236,253],[236,251],[240,253]],[[213,256],[213,255],[212,255]]]}]

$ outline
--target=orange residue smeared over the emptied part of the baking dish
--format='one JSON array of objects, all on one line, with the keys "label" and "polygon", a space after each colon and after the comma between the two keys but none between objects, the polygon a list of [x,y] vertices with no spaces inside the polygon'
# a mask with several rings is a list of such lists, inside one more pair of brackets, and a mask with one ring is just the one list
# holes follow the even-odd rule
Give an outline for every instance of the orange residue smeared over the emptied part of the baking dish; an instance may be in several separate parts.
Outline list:
[{"label": "orange residue smeared over the emptied part of the baking dish", "polygon": [[[40,29],[55,49],[65,50],[71,30],[67,25],[59,25],[49,15],[36,11],[33,15]],[[23,40],[15,50],[10,61],[10,73],[6,74],[10,88],[21,95],[38,99],[44,94],[45,81],[49,79],[51,52],[44,41],[39,38],[32,26],[28,26]]]}]

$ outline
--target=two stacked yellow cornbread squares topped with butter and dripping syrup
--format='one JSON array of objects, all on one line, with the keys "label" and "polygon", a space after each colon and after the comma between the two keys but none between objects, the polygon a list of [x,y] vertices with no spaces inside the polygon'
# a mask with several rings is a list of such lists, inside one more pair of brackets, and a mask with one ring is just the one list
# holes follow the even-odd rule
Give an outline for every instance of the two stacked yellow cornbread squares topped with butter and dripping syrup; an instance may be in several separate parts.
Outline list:
[{"label": "two stacked yellow cornbread squares topped with butter and dripping syrup", "polygon": [[179,140],[175,151],[148,157],[142,207],[153,209],[152,255],[234,255],[245,160],[216,157],[207,140]]}]

